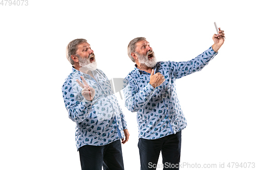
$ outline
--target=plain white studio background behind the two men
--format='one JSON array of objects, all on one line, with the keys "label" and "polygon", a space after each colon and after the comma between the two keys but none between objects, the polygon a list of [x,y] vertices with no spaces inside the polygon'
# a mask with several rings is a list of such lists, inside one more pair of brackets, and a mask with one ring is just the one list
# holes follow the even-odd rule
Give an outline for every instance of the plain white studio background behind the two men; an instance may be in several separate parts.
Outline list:
[{"label": "plain white studio background behind the two men", "polygon": [[[0,5],[0,169],[80,169],[75,123],[61,93],[72,69],[65,55],[71,40],[87,39],[98,68],[109,79],[124,78],[134,69],[127,56],[133,38],[146,37],[158,61],[187,61],[213,44],[215,21],[226,36],[219,54],[202,71],[176,82],[188,121],[181,162],[218,167],[255,162],[254,1],[5,3]],[[123,102],[131,135],[122,145],[124,166],[139,169],[136,113]]]}]

